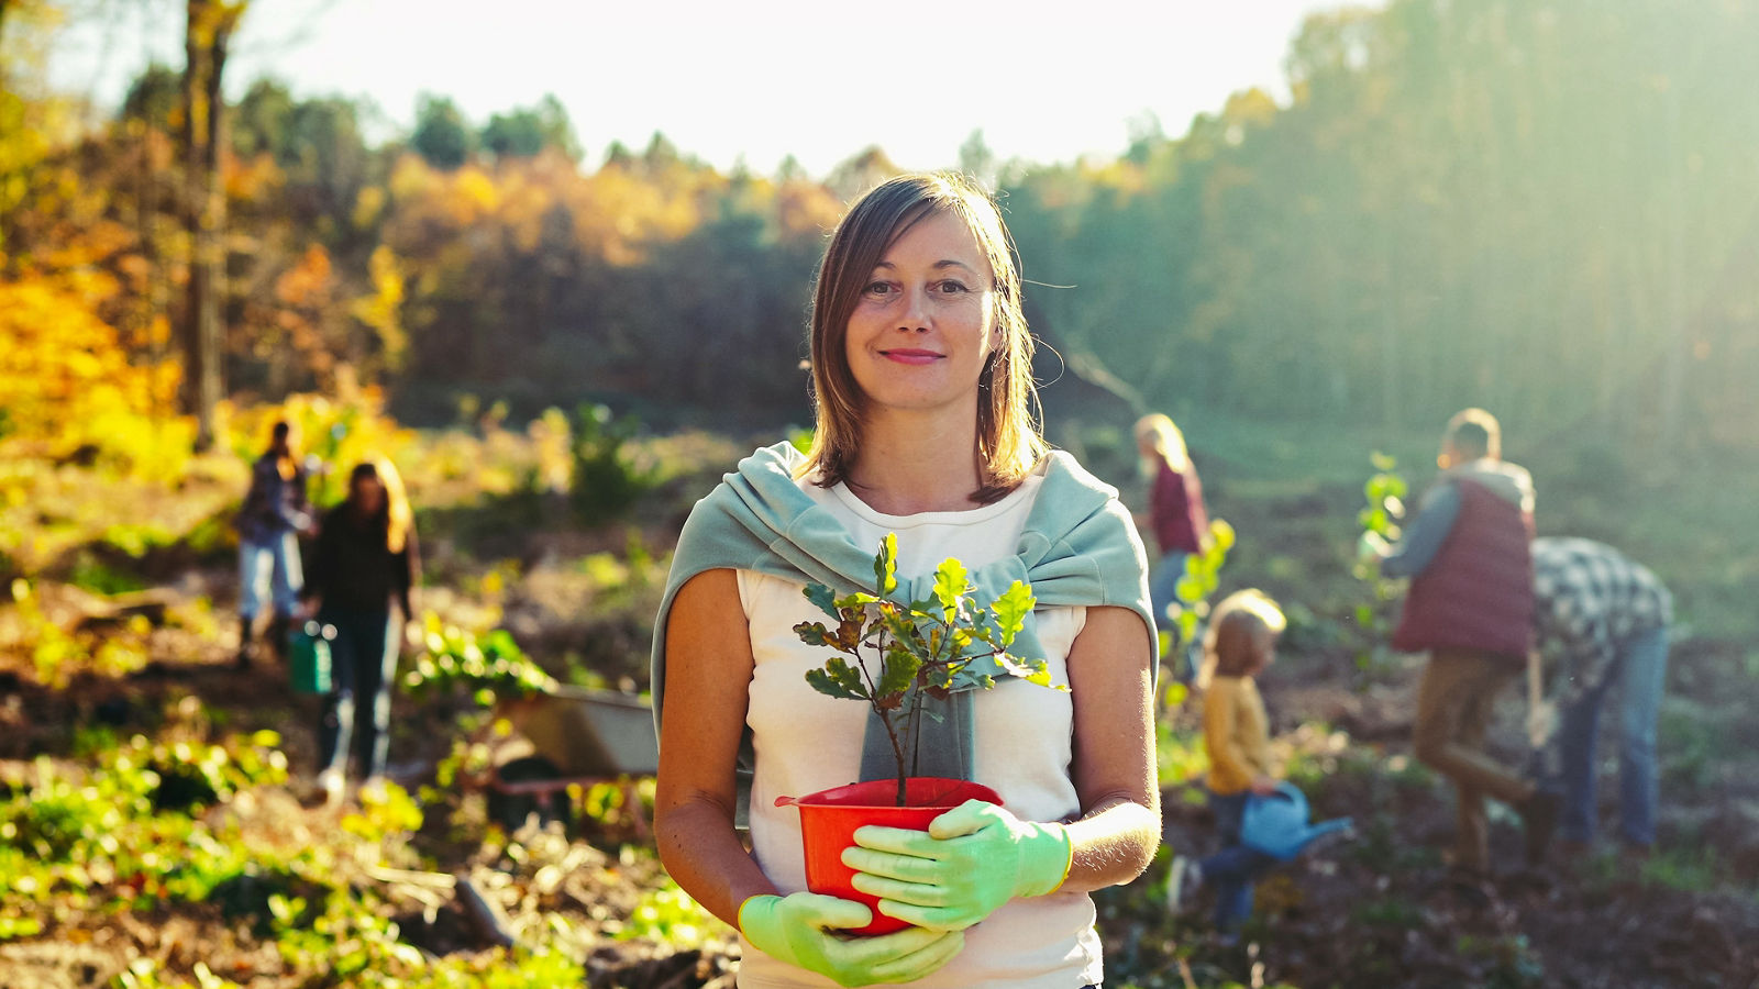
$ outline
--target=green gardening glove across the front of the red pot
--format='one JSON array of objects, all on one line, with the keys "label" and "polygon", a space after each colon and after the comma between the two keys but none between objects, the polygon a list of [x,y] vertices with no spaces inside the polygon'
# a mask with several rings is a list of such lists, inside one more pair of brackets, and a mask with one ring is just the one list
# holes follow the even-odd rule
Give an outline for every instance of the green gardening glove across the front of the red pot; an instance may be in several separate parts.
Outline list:
[{"label": "green gardening glove across the front of the red pot", "polygon": [[880,913],[931,931],[964,931],[1017,896],[1045,896],[1069,875],[1075,846],[1061,824],[1033,824],[966,801],[929,831],[860,827],[843,864]]}]

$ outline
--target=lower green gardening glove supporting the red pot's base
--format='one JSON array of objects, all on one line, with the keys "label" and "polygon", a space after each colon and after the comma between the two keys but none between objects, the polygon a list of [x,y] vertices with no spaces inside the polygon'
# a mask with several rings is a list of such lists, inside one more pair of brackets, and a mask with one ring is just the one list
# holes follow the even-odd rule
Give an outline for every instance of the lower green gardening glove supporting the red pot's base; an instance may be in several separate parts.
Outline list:
[{"label": "lower green gardening glove supporting the red pot's base", "polygon": [[871,920],[872,912],[860,903],[816,892],[753,896],[739,906],[739,931],[751,947],[837,985],[915,982],[966,947],[966,936],[957,931],[920,927],[872,938],[836,934],[844,927],[865,927]]}]

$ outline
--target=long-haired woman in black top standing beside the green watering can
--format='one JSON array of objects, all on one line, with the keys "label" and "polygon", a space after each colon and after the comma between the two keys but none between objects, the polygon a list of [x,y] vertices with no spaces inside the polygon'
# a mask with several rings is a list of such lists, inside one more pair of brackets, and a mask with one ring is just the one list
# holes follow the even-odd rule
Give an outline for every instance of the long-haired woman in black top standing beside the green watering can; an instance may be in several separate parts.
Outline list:
[{"label": "long-haired woman in black top standing beside the green watering can", "polygon": [[[415,526],[403,480],[387,459],[348,475],[348,500],[324,516],[306,579],[306,612],[336,630],[331,679],[318,725],[318,788],[331,802],[343,792],[350,743],[361,778],[385,773],[390,685],[403,621],[413,618],[410,590],[419,570]],[[392,602],[403,612],[398,621]]]}]

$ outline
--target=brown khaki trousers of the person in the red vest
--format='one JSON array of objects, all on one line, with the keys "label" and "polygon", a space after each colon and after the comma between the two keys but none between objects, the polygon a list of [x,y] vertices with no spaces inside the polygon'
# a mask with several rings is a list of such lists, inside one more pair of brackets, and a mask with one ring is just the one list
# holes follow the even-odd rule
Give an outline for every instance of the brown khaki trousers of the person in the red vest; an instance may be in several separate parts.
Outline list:
[{"label": "brown khaki trousers of the person in the red vest", "polygon": [[1455,866],[1488,871],[1488,822],[1485,797],[1520,806],[1534,787],[1520,774],[1485,755],[1485,730],[1497,693],[1514,683],[1522,665],[1509,656],[1471,649],[1430,653],[1418,685],[1418,716],[1411,727],[1416,757],[1453,780],[1460,797],[1455,834]]}]

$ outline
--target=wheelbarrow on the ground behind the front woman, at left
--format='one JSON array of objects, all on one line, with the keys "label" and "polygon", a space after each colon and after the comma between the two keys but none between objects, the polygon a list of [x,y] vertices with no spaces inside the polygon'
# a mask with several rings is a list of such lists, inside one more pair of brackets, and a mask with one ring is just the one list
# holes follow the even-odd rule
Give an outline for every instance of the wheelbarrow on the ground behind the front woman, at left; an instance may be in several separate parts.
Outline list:
[{"label": "wheelbarrow on the ground behind the front woman, at left", "polygon": [[533,753],[500,762],[477,778],[489,797],[489,820],[515,831],[536,813],[540,822],[568,825],[570,787],[616,783],[637,836],[649,836],[635,781],[660,771],[660,743],[646,700],[551,681],[540,693],[501,700],[496,714],[524,736]]}]

